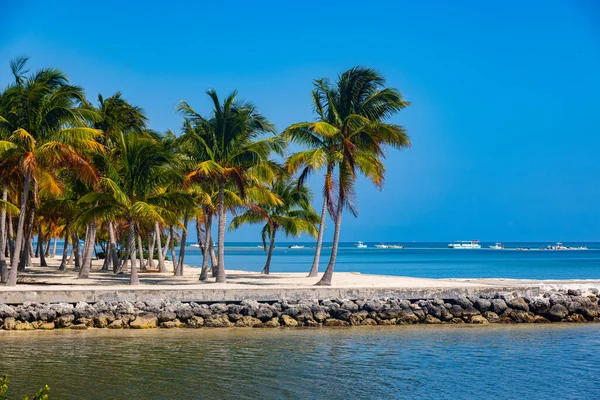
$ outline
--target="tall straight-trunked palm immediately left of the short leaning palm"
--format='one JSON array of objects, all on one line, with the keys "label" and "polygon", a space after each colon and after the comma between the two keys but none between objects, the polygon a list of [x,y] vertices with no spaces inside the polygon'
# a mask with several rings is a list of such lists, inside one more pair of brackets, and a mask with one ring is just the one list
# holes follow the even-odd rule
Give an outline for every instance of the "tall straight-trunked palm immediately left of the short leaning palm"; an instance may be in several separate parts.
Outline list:
[{"label": "tall straight-trunked palm immediately left of the short leaning palm", "polygon": [[[225,282],[225,190],[235,186],[245,198],[251,182],[249,171],[267,163],[272,151],[282,153],[283,141],[280,137],[258,140],[262,134],[275,133],[275,127],[252,103],[237,101],[237,92],[230,94],[223,104],[214,90],[208,90],[207,94],[214,107],[208,118],[202,117],[184,101],[178,111],[188,120],[199,146],[198,152],[202,154],[198,157],[201,161],[187,179],[200,183],[216,181],[219,188],[216,281]],[[263,168],[261,173],[268,175],[269,168]]]}]

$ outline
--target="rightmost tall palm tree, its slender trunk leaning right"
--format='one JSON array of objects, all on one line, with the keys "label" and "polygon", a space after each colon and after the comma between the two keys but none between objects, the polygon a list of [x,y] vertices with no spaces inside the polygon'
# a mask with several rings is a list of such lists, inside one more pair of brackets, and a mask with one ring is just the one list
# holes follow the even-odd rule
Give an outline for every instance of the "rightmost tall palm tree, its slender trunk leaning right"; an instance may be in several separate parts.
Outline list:
[{"label": "rightmost tall palm tree, its slender trunk leaning right", "polygon": [[400,92],[385,87],[384,78],[374,69],[354,67],[341,74],[335,84],[315,81],[313,103],[317,123],[292,126],[327,138],[329,162],[338,167],[338,190],[333,211],[335,229],[327,269],[317,285],[331,285],[337,257],[344,208],[355,216],[354,184],[358,174],[382,188],[386,147],[410,146],[403,127],[386,122],[409,105]]}]

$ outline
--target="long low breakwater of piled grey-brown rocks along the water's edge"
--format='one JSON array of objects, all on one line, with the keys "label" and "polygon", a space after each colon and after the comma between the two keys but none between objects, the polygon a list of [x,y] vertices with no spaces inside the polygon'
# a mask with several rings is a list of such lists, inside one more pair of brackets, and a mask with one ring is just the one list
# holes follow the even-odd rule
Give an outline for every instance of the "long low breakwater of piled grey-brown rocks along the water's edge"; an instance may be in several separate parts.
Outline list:
[{"label": "long low breakwater of piled grey-brown rocks along the water's edge", "polygon": [[396,298],[259,303],[0,304],[4,330],[319,327],[404,324],[598,322],[598,290],[551,291],[538,297],[494,295],[456,300]]}]

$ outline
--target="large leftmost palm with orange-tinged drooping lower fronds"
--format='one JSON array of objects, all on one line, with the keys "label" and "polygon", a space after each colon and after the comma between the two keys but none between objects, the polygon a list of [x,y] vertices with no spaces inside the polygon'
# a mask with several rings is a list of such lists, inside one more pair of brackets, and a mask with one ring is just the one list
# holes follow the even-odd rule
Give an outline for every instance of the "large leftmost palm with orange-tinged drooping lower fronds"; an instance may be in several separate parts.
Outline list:
[{"label": "large leftmost palm with orange-tinged drooping lower fronds", "polygon": [[[89,182],[97,179],[97,172],[81,152],[102,151],[95,140],[98,130],[88,122],[95,113],[87,106],[83,89],[69,84],[67,77],[51,68],[41,69],[26,76],[27,58],[11,62],[15,83],[9,86],[0,109],[0,129],[11,132],[0,141],[0,168],[13,166],[22,175],[22,196],[15,239],[16,251],[11,259],[7,285],[17,283],[20,249],[25,235],[25,221],[31,221],[37,201],[37,183],[44,176],[53,178],[58,170],[72,167]],[[30,215],[27,205],[33,183]],[[28,228],[30,237],[31,226]],[[29,239],[28,239],[29,240]]]}]

